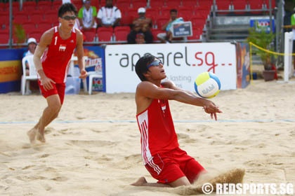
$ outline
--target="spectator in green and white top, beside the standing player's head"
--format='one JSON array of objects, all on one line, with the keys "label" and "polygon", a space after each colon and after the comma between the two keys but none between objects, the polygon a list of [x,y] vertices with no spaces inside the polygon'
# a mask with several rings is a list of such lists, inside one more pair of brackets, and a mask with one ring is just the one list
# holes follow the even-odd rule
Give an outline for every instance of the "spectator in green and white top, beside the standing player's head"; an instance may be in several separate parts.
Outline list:
[{"label": "spectator in green and white top, beside the standing player's head", "polygon": [[81,31],[96,29],[96,7],[91,6],[90,0],[83,0],[83,3],[84,6],[79,9],[78,13]]}]

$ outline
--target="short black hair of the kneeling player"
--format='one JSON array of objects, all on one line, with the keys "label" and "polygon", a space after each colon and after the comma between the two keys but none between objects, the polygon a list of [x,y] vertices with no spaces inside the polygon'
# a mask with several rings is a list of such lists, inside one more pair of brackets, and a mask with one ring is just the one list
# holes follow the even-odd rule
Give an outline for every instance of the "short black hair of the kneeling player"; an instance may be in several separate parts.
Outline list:
[{"label": "short black hair of the kneeling player", "polygon": [[155,56],[153,55],[144,55],[143,57],[140,57],[138,61],[136,62],[136,74],[138,78],[142,81],[146,81],[147,78],[143,76],[143,73],[147,73],[147,64],[151,64],[153,61],[155,61]]}]

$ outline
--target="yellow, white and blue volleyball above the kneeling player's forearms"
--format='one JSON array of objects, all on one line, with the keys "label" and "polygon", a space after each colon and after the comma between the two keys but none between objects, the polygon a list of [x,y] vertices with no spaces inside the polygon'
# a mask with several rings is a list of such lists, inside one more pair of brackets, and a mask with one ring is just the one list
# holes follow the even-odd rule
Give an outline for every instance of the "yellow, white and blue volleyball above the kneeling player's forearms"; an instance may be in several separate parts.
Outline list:
[{"label": "yellow, white and blue volleyball above the kneeling player's forearms", "polygon": [[195,79],[195,91],[199,97],[212,98],[221,90],[221,81],[211,72],[200,73]]}]

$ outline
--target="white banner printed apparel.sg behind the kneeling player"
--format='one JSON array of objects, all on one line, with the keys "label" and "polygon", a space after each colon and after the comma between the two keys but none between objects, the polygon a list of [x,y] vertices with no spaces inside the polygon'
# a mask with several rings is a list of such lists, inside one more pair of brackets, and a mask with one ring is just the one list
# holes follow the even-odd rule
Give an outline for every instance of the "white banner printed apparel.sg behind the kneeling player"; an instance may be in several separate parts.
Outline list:
[{"label": "white banner printed apparel.sg behind the kneeling player", "polygon": [[221,80],[221,90],[237,88],[236,50],[230,43],[154,43],[107,45],[105,85],[107,93],[135,92],[140,79],[135,65],[145,54],[155,55],[166,76],[178,87],[195,92],[199,73],[211,71]]}]

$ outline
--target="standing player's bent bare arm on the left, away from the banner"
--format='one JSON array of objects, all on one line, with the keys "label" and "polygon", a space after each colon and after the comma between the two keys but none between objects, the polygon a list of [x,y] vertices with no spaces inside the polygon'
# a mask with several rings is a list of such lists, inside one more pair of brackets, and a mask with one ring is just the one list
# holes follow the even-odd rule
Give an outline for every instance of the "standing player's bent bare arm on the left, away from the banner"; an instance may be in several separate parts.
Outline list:
[{"label": "standing player's bent bare arm on the left, away from the banner", "polygon": [[45,90],[52,89],[53,86],[51,85],[51,83],[55,83],[53,80],[51,80],[51,78],[47,78],[41,64],[41,56],[43,55],[47,46],[51,43],[52,38],[53,38],[53,28],[44,32],[34,52],[34,64],[35,64],[37,72],[39,73],[41,85],[44,85]]}]

